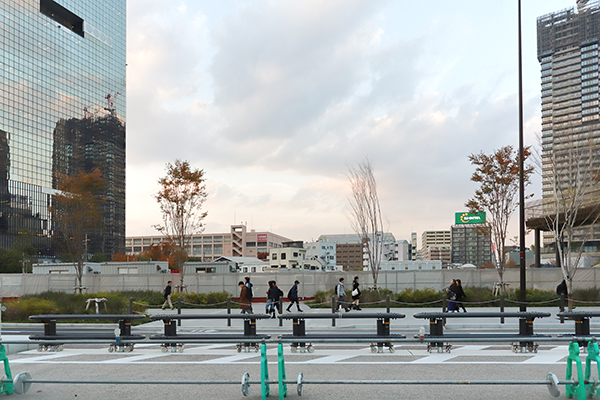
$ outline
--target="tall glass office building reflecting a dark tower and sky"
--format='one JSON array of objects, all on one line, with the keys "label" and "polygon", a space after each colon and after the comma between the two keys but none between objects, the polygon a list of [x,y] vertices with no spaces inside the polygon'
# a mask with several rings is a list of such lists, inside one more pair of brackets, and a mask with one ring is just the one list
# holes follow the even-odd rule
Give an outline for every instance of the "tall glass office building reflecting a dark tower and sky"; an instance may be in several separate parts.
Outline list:
[{"label": "tall glass office building reflecting a dark tower and sky", "polygon": [[124,251],[126,0],[0,0],[0,42],[0,247],[56,254],[57,183],[98,168],[88,252]]}]

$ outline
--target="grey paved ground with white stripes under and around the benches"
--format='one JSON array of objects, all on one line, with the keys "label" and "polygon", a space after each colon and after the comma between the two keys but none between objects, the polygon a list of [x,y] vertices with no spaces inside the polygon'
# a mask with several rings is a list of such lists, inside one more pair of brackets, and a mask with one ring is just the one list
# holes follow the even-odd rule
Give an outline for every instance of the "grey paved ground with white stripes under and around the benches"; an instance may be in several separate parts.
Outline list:
[{"label": "grey paved ground with white stripes under and around the benches", "polygon": [[[555,312],[555,309],[536,309]],[[369,310],[384,311],[384,310]],[[392,321],[393,333],[412,336],[428,321],[412,318],[414,312],[423,310],[395,309],[404,313],[404,320]],[[475,310],[471,310],[475,311]],[[155,312],[161,312],[156,310]],[[192,311],[184,311],[192,312]],[[197,312],[197,311],[196,311]],[[222,313],[222,310],[203,312]],[[313,310],[313,312],[315,312]],[[318,311],[323,312],[323,311]],[[598,318],[600,320],[600,318]],[[518,331],[516,320],[499,321],[468,319],[448,320],[447,330],[505,330]],[[593,322],[593,320],[592,320]],[[184,320],[181,332],[233,332],[242,329],[241,321]],[[331,327],[331,320],[307,322],[307,332],[375,330],[374,321],[342,319]],[[560,324],[554,316],[535,321],[536,332],[573,332],[574,323]],[[32,326],[23,326],[30,330]],[[18,335],[18,326],[10,328]],[[61,329],[59,327],[59,329]],[[79,326],[76,329],[81,329]],[[600,326],[592,323],[592,332]],[[135,328],[145,334],[161,333],[162,322],[157,321]],[[281,334],[291,332],[291,322],[278,326],[277,320],[257,323],[258,333]],[[11,337],[13,335],[10,335]],[[16,337],[16,336],[14,336]],[[3,335],[4,339],[9,336]],[[244,372],[252,380],[260,378],[260,355],[254,352],[238,353],[235,345],[186,345],[183,353],[164,353],[158,344],[136,345],[131,353],[108,353],[105,346],[66,345],[57,353],[39,353],[29,350],[9,356],[13,374],[28,371],[38,379],[87,380],[232,380],[240,382]],[[292,353],[284,347],[287,378],[296,380],[302,372],[305,380],[544,380],[548,372],[560,379],[565,377],[565,343],[540,344],[538,353],[513,353],[506,343],[463,343],[454,345],[451,353],[428,353],[419,343],[397,345],[395,353],[372,354],[368,344],[315,344],[314,353]],[[268,346],[269,375],[277,378],[277,350]],[[57,385],[33,384],[22,399],[242,399],[240,384],[232,385]],[[564,389],[561,390],[562,398]],[[252,385],[248,399],[259,399],[260,387]],[[271,385],[270,398],[278,397],[278,388]],[[311,385],[304,386],[302,397],[296,385],[288,386],[288,398],[325,399],[551,399],[545,385],[537,386],[397,386],[397,385]]]}]

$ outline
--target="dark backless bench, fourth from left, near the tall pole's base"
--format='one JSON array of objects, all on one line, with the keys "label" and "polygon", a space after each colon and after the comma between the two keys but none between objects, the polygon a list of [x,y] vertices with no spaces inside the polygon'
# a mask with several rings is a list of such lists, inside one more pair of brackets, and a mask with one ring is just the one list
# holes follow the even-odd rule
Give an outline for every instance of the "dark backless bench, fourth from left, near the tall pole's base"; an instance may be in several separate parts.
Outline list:
[{"label": "dark backless bench, fourth from left, near the tall pole's base", "polygon": [[[520,350],[523,352],[525,349],[530,352],[537,353],[538,345],[534,343],[535,338],[548,335],[536,335],[533,333],[533,320],[536,318],[549,317],[550,313],[539,312],[539,311],[475,311],[475,312],[463,312],[463,313],[447,313],[447,312],[420,312],[413,315],[415,318],[429,319],[429,337],[430,338],[460,338],[460,339],[509,339],[514,338],[514,334],[506,333],[451,333],[444,334],[445,319],[447,318],[519,318],[519,334],[518,342],[512,344],[512,350],[517,352]],[[427,336],[424,333],[421,337]],[[444,344],[440,342],[429,342],[427,344],[427,351],[437,348],[438,352],[442,352],[445,349],[448,353],[452,348],[451,344]]]}]

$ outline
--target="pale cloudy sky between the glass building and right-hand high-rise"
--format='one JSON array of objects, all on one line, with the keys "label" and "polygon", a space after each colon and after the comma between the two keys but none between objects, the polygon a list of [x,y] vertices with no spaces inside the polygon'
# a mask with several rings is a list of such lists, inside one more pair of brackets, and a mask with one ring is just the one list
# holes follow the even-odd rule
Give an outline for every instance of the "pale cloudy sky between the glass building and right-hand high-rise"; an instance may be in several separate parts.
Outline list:
[{"label": "pale cloudy sky between the glass building and right-hand high-rise", "polygon": [[[537,146],[536,18],[575,0],[522,3],[524,137]],[[205,233],[354,233],[347,173],[369,160],[385,230],[420,241],[466,210],[470,154],[518,148],[517,0],[127,4],[128,236],[156,234],[175,159],[206,173]],[[527,192],[541,198],[539,176]]]}]

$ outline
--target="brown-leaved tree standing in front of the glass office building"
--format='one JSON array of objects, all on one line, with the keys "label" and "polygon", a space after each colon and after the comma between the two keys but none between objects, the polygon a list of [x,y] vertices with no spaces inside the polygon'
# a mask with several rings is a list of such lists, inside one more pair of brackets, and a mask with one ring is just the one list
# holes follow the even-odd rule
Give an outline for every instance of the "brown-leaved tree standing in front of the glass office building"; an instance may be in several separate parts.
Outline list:
[{"label": "brown-leaved tree standing in front of the glass office building", "polygon": [[67,251],[77,260],[75,272],[78,290],[83,289],[83,263],[87,257],[88,235],[100,230],[103,199],[99,192],[104,187],[100,170],[65,176],[57,184],[60,193],[54,195],[50,211]]}]

